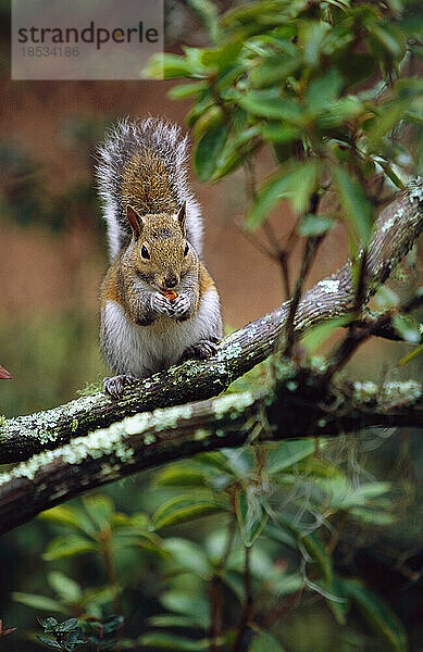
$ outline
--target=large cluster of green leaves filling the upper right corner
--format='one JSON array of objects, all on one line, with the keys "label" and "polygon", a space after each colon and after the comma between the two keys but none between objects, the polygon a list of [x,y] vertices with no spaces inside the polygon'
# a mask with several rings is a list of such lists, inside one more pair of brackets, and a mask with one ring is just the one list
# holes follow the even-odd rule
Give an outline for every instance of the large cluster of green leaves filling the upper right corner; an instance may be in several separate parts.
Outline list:
[{"label": "large cluster of green leaves filling the upper right corner", "polygon": [[215,46],[158,55],[148,67],[197,79],[171,96],[192,102],[200,179],[217,180],[270,148],[276,171],[254,196],[248,228],[283,198],[301,214],[313,192],[332,187],[351,244],[365,244],[381,196],[375,180],[402,188],[422,161],[423,84],[413,73],[421,4],[264,0],[219,24],[206,5]]}]

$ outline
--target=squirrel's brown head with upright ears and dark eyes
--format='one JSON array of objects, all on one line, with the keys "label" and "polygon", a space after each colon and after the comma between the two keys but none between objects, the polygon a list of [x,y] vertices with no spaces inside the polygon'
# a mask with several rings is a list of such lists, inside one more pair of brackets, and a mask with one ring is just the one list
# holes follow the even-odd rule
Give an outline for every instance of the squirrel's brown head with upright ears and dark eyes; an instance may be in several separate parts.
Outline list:
[{"label": "squirrel's brown head with upright ears and dark eyes", "polygon": [[141,216],[132,206],[126,214],[133,231],[128,254],[139,278],[159,291],[177,288],[195,255],[186,239],[185,203],[174,214]]}]

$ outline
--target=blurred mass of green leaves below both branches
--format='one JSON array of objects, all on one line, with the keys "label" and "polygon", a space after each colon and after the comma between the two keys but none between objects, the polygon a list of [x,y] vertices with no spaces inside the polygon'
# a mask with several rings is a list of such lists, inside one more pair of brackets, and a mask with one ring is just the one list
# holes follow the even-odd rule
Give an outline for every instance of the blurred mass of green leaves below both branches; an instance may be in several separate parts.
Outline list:
[{"label": "blurred mass of green leaves below both branches", "polygon": [[[273,645],[270,649],[282,649],[264,626],[269,604],[276,609],[281,600],[284,603],[311,592],[321,595],[344,625],[351,601],[359,604],[387,649],[405,650],[403,630],[389,607],[364,586],[351,585],[338,575],[332,555],[331,523],[340,518],[343,527],[348,527],[347,522],[356,527],[368,522],[382,527],[395,521],[390,486],[374,481],[354,486],[344,471],[325,459],[325,448],[321,443],[316,449],[309,440],[282,442],[204,453],[172,464],[153,475],[155,491],[172,492],[151,515],[116,512],[112,501],[99,494],[85,497],[84,509],[53,507],[40,518],[59,526],[62,534],[50,541],[45,559],[49,563],[86,555],[102,559],[108,584],[82,587],[62,572],[52,570],[48,581],[53,598],[17,593],[15,599],[37,611],[78,615],[78,620],[71,618],[61,625],[50,616],[43,624],[50,628],[46,632],[55,638],[50,642],[46,637],[40,639],[50,647],[73,650],[72,645],[82,644],[76,624],[86,635],[87,628],[104,625],[108,612],[122,604],[125,587],[115,572],[119,551],[141,548],[161,577],[155,588],[159,612],[149,617],[149,631],[138,639],[148,649],[208,650],[210,597],[216,587],[232,607],[220,612],[222,626],[215,644],[231,649],[247,599],[248,573],[252,594],[261,597],[256,604],[252,649],[260,649],[264,641]],[[186,523],[191,536],[173,536],[173,528]],[[202,534],[192,537],[197,523]],[[210,526],[204,529],[201,524],[207,523]],[[217,611],[222,610],[222,603],[217,604]],[[382,613],[386,615],[383,626]],[[70,635],[67,629],[66,635],[57,629],[71,624],[75,628]],[[187,631],[191,632],[188,638],[183,635]],[[89,643],[92,636],[84,641]]]}]

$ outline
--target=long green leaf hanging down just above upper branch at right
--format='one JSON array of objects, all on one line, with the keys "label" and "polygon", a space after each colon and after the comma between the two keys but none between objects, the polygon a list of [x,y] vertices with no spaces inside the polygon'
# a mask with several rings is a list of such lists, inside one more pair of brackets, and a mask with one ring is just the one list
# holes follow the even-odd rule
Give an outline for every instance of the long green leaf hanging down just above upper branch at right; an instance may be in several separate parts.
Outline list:
[{"label": "long green leaf hanging down just above upper branch at right", "polygon": [[362,188],[345,170],[336,167],[335,183],[339,200],[345,211],[348,230],[356,243],[365,246],[372,234],[372,206],[364,196]]}]

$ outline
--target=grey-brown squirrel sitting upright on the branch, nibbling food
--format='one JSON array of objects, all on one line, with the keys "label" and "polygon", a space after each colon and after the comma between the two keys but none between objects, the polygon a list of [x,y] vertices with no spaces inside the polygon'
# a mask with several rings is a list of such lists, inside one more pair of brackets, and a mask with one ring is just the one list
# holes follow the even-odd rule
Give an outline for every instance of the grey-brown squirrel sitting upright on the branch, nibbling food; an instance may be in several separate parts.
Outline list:
[{"label": "grey-brown squirrel sitting upright on the branch, nibbling food", "polygon": [[187,184],[188,137],[158,117],[125,118],[98,148],[110,267],[100,288],[100,344],[115,376],[104,390],[177,362],[207,359],[222,339],[215,284],[200,260],[202,222]]}]

